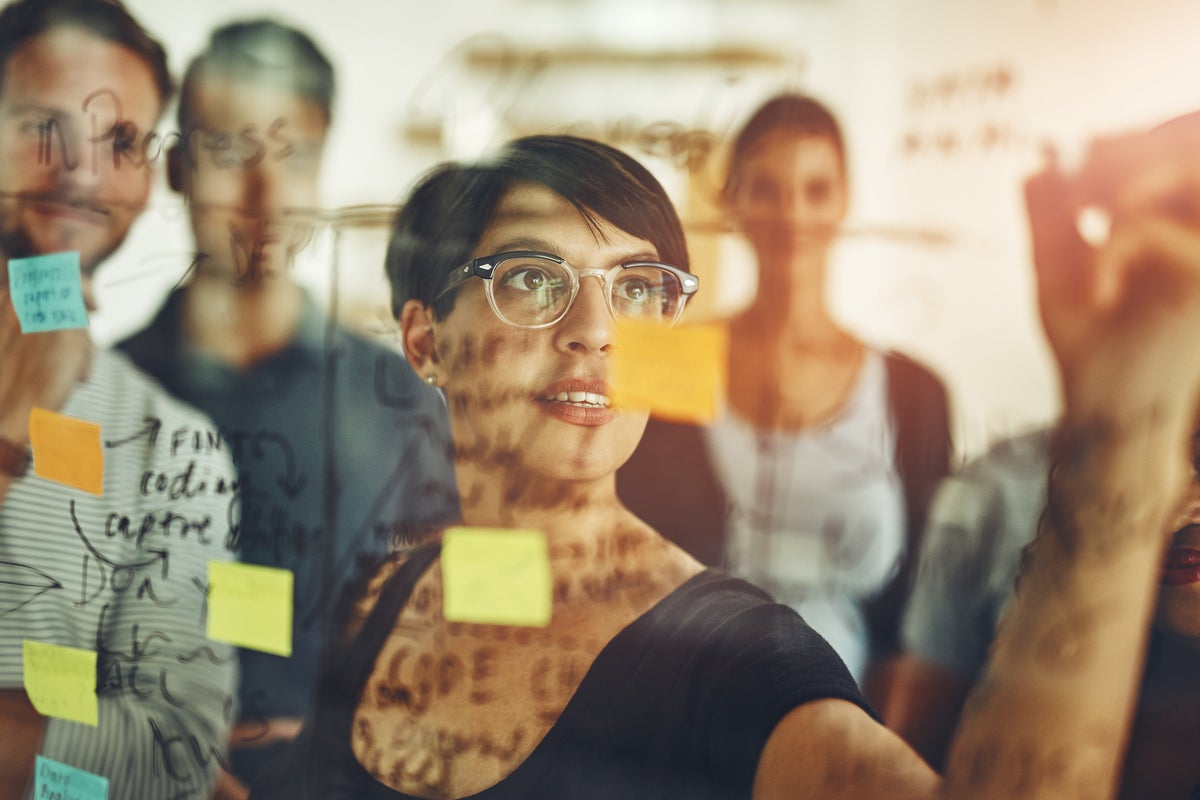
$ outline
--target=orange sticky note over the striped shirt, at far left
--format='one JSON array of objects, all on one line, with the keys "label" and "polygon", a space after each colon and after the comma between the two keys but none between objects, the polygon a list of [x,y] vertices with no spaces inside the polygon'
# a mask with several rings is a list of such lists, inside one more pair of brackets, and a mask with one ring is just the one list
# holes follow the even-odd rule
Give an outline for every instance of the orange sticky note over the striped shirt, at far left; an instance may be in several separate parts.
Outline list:
[{"label": "orange sticky note over the striped shirt, at far left", "polygon": [[100,426],[44,408],[29,413],[34,474],[91,494],[104,493],[104,451]]}]

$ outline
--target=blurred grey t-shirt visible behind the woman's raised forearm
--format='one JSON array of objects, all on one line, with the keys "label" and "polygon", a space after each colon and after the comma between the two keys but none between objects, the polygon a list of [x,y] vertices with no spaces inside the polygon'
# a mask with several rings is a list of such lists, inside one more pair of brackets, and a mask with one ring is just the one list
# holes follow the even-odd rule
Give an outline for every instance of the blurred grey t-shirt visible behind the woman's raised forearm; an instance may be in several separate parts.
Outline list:
[{"label": "blurred grey t-shirt visible behind the woman's raised forearm", "polygon": [[1006,439],[938,487],[905,609],[905,650],[967,681],[978,675],[1037,534],[1050,439],[1049,428]]}]

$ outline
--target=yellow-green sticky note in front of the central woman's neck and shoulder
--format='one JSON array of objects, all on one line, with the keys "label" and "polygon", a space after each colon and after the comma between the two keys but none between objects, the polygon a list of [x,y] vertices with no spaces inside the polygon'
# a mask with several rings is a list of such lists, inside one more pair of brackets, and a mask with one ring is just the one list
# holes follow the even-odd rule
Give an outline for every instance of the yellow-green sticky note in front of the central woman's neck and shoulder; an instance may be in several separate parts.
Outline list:
[{"label": "yellow-green sticky note in front of the central woman's neck and shoulder", "polygon": [[449,528],[442,539],[443,614],[451,622],[550,622],[546,535],[536,530]]}]

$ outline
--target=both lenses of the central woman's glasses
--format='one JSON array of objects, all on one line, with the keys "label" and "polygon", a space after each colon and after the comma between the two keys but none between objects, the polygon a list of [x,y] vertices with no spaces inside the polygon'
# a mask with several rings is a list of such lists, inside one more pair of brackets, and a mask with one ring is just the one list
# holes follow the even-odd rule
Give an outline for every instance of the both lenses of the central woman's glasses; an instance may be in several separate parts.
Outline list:
[{"label": "both lenses of the central woman's glasses", "polygon": [[[610,296],[618,317],[647,321],[674,319],[683,295],[679,279],[656,266],[617,272]],[[542,325],[566,312],[571,302],[570,267],[544,258],[506,258],[492,275],[497,309],[517,325]]]}]

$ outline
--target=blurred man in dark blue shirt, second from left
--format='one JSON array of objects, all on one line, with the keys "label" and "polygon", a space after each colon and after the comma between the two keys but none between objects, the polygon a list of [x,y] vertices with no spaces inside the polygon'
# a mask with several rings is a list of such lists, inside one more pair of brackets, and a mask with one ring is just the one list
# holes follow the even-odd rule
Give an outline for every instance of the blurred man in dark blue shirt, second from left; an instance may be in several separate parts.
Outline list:
[{"label": "blurred man in dark blue shirt, second from left", "polygon": [[[245,783],[295,735],[328,608],[356,560],[457,513],[444,405],[402,356],[328,319],[292,276],[319,223],[334,97],[334,68],[304,32],[252,19],[211,34],[184,77],[168,154],[193,271],[118,345],[230,441],[240,559],[294,575],[290,657],[239,651],[230,759]],[[229,778],[222,789],[244,793]]]}]

